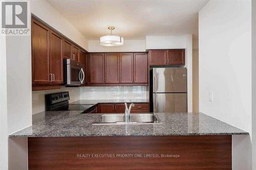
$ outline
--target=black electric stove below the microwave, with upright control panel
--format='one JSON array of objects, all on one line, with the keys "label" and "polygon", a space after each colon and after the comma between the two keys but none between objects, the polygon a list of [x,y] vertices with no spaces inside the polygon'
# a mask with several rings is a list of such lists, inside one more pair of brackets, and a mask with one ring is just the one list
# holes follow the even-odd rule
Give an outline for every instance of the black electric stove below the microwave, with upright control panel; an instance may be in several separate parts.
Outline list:
[{"label": "black electric stove below the microwave, with upright control panel", "polygon": [[70,105],[69,104],[69,92],[59,92],[53,94],[46,94],[46,110],[59,111],[59,110],[79,110],[86,111],[92,108],[94,105]]}]

